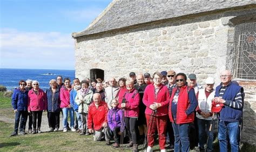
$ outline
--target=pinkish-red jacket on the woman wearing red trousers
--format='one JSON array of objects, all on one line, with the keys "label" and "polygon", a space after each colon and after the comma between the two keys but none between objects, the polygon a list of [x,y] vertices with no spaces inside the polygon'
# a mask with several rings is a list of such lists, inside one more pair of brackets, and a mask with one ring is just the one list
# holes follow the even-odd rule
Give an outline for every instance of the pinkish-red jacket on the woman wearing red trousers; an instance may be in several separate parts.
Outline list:
[{"label": "pinkish-red jacket on the woman wearing red trousers", "polygon": [[160,89],[157,93],[157,97],[155,97],[154,93],[154,84],[147,85],[144,96],[143,96],[143,103],[146,105],[146,114],[152,114],[152,110],[150,105],[156,103],[161,103],[161,107],[157,108],[157,116],[167,115],[168,114],[168,104],[169,104],[169,90],[167,86],[161,84]]}]

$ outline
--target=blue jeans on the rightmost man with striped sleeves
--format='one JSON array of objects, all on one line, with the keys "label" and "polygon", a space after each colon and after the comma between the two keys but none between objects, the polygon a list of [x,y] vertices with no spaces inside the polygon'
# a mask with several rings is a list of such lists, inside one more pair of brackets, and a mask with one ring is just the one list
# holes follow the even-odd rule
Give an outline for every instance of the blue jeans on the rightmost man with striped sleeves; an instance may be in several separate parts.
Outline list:
[{"label": "blue jeans on the rightmost man with striped sleeves", "polygon": [[219,144],[220,151],[227,151],[227,134],[230,139],[231,151],[239,151],[239,122],[228,122],[219,120]]}]

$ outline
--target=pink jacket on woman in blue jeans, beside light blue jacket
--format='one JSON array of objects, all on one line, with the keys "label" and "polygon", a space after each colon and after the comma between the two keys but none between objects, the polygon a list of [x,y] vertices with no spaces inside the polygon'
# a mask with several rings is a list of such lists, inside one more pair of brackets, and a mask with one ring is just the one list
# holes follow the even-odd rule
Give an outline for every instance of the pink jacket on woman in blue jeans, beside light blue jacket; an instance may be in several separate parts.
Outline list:
[{"label": "pink jacket on woman in blue jeans, beside light blue jacket", "polygon": [[63,85],[62,88],[60,88],[60,108],[69,107],[70,105],[70,91],[72,89],[68,90],[66,89],[66,86]]}]

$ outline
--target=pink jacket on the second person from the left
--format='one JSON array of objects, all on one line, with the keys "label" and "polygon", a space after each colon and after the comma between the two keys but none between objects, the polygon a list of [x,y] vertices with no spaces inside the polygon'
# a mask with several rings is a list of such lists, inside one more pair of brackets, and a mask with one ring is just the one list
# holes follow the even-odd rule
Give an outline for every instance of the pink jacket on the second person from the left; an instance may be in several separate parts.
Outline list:
[{"label": "pink jacket on the second person from the left", "polygon": [[47,97],[42,89],[38,89],[37,95],[31,89],[28,96],[28,111],[43,111],[47,109]]}]

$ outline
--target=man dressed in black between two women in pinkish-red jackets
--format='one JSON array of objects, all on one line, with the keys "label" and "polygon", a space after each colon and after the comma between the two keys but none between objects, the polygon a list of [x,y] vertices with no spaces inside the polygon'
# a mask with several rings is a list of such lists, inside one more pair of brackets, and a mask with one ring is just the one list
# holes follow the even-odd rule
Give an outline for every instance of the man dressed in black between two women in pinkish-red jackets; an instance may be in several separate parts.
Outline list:
[{"label": "man dressed in black between two women in pinkish-red jackets", "polygon": [[138,75],[138,83],[134,85],[134,88],[139,92],[139,118],[138,118],[138,127],[139,127],[139,143],[143,143],[145,135],[147,134],[147,121],[145,117],[146,106],[143,104],[144,91],[147,84],[144,82],[143,74]]}]

